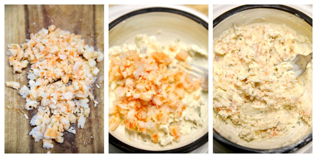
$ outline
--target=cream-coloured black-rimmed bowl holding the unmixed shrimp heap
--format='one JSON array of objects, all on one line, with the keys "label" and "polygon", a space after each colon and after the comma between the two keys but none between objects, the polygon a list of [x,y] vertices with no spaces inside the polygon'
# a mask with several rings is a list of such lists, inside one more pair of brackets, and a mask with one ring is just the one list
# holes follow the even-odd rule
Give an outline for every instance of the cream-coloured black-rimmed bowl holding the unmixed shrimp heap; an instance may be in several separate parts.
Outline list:
[{"label": "cream-coloured black-rimmed bowl holding the unmixed shrimp heap", "polygon": [[[109,48],[133,44],[137,34],[155,35],[157,41],[166,46],[171,41],[180,40],[208,52],[208,23],[181,10],[146,8],[119,17],[109,24]],[[208,59],[199,60],[197,64],[208,69]],[[152,143],[146,135],[136,134],[120,125],[116,130],[109,131],[109,143],[128,153],[187,153],[197,149],[208,142],[208,93],[201,97],[206,103],[201,107],[204,125],[193,128],[189,135],[182,135],[179,142],[163,147]]]}]

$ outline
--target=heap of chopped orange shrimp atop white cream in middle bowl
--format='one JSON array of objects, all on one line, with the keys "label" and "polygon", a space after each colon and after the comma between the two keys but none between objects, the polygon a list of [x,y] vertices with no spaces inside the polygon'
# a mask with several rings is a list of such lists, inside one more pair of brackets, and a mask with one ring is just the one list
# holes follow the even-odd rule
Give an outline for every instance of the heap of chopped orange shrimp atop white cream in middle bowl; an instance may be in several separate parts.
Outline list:
[{"label": "heap of chopped orange shrimp atop white cream in middle bowl", "polygon": [[[146,52],[146,47],[142,47],[140,51],[131,49],[109,55],[109,90],[115,94],[109,108],[109,130],[124,124],[130,131],[149,135],[152,142],[164,146],[179,140],[182,133],[175,119],[186,108],[182,99],[199,90],[202,80],[174,66],[176,59],[178,63],[185,62],[188,52],[176,52],[170,47],[169,51],[175,53],[172,59],[155,45],[148,48],[152,51]],[[198,100],[199,95],[195,98]],[[162,131],[165,134],[160,136]],[[162,141],[163,137],[171,140]]]}]

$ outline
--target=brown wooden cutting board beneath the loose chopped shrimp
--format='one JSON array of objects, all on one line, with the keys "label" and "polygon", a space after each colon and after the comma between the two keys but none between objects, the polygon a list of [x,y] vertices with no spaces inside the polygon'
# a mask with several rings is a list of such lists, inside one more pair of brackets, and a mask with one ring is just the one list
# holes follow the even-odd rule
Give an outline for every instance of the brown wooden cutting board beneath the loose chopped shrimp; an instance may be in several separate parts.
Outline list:
[{"label": "brown wooden cutting board beneath the loose chopped shrimp", "polygon": [[[104,5],[5,5],[4,12],[5,81],[20,82],[21,87],[28,85],[26,72],[29,67],[25,68],[21,74],[13,74],[13,67],[9,65],[9,56],[5,55],[9,52],[7,46],[10,43],[25,43],[30,33],[36,33],[52,24],[62,30],[81,34],[86,44],[94,46],[95,50],[104,51]],[[37,109],[17,110],[17,107],[25,105],[25,100],[19,95],[18,90],[8,88],[3,83],[5,91],[4,152],[104,153],[104,61],[97,63],[97,67],[100,72],[96,83],[100,88],[94,88],[93,92],[99,104],[94,107],[93,102],[90,101],[90,114],[84,129],[78,129],[77,123],[71,125],[75,127],[76,134],[64,132],[64,142],[57,143],[53,140],[53,149],[43,149],[42,140],[34,142],[34,138],[29,136],[29,132],[34,127],[29,122]],[[23,116],[23,112],[29,119]]]}]

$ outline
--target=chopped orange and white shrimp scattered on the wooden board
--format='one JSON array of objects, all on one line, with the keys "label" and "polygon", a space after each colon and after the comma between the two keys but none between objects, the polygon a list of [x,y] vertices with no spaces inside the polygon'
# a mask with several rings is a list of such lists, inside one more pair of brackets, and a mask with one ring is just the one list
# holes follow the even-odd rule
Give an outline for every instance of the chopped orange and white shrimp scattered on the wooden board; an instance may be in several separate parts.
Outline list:
[{"label": "chopped orange and white shrimp scattered on the wooden board", "polygon": [[[96,62],[104,56],[85,45],[81,35],[55,28],[51,25],[30,34],[30,40],[22,45],[10,44],[7,53],[13,73],[21,73],[31,64],[29,85],[23,85],[20,95],[26,99],[27,110],[37,108],[30,121],[36,127],[29,135],[35,142],[43,140],[43,148],[47,149],[53,148],[52,139],[64,141],[64,131],[76,134],[70,124],[77,121],[77,127],[84,128],[90,113],[89,99],[94,106],[98,104],[90,91],[99,72]],[[7,82],[7,86],[20,88],[18,82]]]}]

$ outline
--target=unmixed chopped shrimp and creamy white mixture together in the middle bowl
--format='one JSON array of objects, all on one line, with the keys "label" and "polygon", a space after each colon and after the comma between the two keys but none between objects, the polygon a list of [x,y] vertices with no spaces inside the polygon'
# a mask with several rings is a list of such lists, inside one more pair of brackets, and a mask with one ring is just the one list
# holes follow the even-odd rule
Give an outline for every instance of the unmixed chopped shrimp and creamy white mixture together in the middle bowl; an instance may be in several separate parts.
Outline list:
[{"label": "unmixed chopped shrimp and creamy white mixture together in the middle bowl", "polygon": [[162,46],[156,36],[145,34],[137,35],[133,45],[111,47],[109,130],[124,125],[165,146],[202,126],[202,79],[185,69],[198,51],[179,40]]}]

